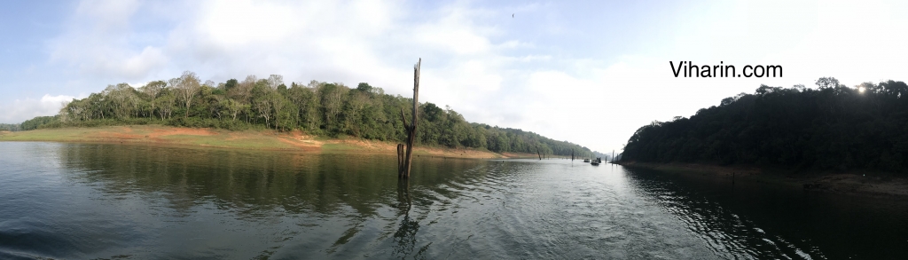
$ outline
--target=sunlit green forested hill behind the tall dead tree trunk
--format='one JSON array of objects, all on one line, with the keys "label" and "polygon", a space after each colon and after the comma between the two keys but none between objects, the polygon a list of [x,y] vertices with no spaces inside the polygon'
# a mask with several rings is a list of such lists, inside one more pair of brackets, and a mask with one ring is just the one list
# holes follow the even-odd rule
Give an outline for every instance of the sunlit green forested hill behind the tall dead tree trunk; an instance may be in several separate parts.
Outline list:
[{"label": "sunlit green forested hill behind the tall dead tree trunk", "polygon": [[[311,135],[355,136],[397,142],[404,140],[401,110],[412,113],[412,98],[387,95],[379,87],[360,83],[312,81],[284,85],[281,75],[258,79],[201,83],[185,72],[167,81],[138,88],[109,85],[64,105],[59,115],[36,117],[22,124],[37,127],[163,124],[226,129],[300,129]],[[408,117],[409,118],[409,117]],[[497,153],[591,156],[586,147],[556,141],[520,129],[470,124],[456,111],[431,103],[419,104],[417,142],[451,148],[489,149]]]}]

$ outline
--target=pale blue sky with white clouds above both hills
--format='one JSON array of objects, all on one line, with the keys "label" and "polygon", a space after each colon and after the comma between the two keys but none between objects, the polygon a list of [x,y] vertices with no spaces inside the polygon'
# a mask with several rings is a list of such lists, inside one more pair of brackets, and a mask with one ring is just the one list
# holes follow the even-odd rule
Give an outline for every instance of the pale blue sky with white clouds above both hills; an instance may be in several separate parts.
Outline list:
[{"label": "pale blue sky with white clouds above both hills", "polygon": [[[361,82],[469,122],[621,151],[654,120],[760,85],[908,80],[908,1],[2,1],[0,123],[107,85]],[[676,77],[669,62],[781,65]]]}]

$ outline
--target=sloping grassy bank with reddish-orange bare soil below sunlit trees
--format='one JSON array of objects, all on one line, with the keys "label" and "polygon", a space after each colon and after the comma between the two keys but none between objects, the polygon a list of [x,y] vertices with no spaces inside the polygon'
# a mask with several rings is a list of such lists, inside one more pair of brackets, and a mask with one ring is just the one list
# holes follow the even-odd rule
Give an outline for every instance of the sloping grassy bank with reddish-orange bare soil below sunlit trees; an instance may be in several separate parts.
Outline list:
[{"label": "sloping grassy bank with reddish-orange bare soil below sunlit trees", "polygon": [[[0,132],[0,142],[4,141],[179,145],[320,153],[390,153],[392,155],[397,151],[396,143],[361,139],[329,139],[304,135],[299,131],[291,133],[265,130],[229,131],[163,125],[68,127]],[[415,155],[461,158],[505,157],[489,151],[420,147],[419,145],[414,153]]]}]

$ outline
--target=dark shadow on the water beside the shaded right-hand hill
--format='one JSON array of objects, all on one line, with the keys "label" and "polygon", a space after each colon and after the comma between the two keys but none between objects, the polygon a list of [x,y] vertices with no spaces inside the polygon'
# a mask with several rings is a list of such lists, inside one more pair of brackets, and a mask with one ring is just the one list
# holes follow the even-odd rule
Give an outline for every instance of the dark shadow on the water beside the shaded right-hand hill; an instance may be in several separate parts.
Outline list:
[{"label": "dark shadow on the water beside the shaded right-hand hill", "polygon": [[715,175],[627,169],[641,193],[725,258],[867,258],[908,255],[908,201],[807,193]]}]

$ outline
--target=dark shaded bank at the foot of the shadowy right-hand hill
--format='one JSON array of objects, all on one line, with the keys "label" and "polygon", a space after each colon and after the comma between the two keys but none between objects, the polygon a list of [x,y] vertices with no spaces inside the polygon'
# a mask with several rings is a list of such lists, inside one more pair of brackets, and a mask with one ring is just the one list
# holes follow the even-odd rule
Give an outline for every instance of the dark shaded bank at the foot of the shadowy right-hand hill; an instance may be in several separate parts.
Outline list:
[{"label": "dark shaded bank at the foot of the shadowy right-hand hill", "polygon": [[684,175],[712,175],[717,178],[735,178],[737,181],[755,181],[772,185],[786,185],[821,192],[847,195],[898,196],[908,198],[908,178],[881,172],[793,172],[786,169],[754,166],[719,166],[701,164],[652,164],[623,162],[621,165],[642,167]]}]

